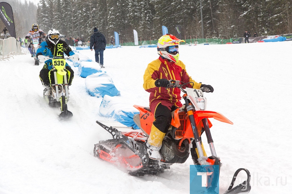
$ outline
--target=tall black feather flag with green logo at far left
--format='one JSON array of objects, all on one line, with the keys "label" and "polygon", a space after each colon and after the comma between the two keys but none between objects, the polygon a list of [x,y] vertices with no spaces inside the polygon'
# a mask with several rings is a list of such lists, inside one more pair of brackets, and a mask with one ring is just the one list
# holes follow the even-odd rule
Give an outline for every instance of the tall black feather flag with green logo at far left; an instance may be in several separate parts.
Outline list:
[{"label": "tall black feather flag with green logo at far left", "polygon": [[[15,26],[14,26],[14,20],[13,20],[13,12],[11,6],[6,2],[0,3],[0,17],[2,22],[5,24],[7,30],[9,31],[11,37],[16,38],[15,33]],[[7,33],[5,28],[1,31],[4,33]]]}]

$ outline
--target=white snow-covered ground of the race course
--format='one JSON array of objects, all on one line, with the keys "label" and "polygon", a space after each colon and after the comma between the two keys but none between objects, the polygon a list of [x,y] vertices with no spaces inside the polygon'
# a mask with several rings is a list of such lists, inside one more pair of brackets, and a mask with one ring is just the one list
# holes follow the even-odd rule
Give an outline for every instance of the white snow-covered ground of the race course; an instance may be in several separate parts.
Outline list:
[{"label": "white snow-covered ground of the race course", "polygon": [[[234,125],[211,119],[223,166],[220,193],[238,168],[251,172],[251,192],[291,193],[292,41],[180,46],[180,60],[197,82],[210,84],[207,110]],[[80,50],[94,61],[94,51]],[[121,97],[149,105],[143,87],[156,48],[106,49],[104,71]],[[90,96],[75,72],[69,121],[46,105],[39,71],[30,54],[0,61],[0,193],[189,193],[191,158],[162,174],[133,177],[93,156],[94,144],[111,137],[96,120],[102,98]],[[121,102],[122,103],[122,102]],[[204,140],[203,140],[204,141]],[[208,145],[205,142],[205,148]],[[242,176],[241,176],[242,175]],[[242,182],[246,175],[239,174]]]}]

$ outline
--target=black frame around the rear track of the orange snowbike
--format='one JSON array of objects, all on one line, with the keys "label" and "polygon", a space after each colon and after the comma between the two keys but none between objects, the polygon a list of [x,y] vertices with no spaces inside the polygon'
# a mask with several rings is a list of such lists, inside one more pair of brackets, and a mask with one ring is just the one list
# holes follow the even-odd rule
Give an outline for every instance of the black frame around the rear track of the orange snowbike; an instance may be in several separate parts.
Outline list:
[{"label": "black frame around the rear track of the orange snowbike", "polygon": [[104,128],[107,132],[112,135],[112,139],[110,140],[102,140],[99,141],[98,144],[94,145],[94,156],[100,157],[98,154],[98,150],[105,151],[108,154],[111,154],[111,150],[114,149],[118,144],[122,144],[129,148],[133,153],[138,155],[142,161],[142,167],[135,171],[129,171],[128,173],[135,176],[143,176],[145,174],[157,174],[163,172],[165,169],[169,169],[170,164],[158,164],[159,161],[152,160],[149,158],[146,150],[146,143],[143,141],[135,141],[133,138],[128,138],[123,135],[119,130],[113,127],[108,127],[99,121],[96,121],[102,128]]}]

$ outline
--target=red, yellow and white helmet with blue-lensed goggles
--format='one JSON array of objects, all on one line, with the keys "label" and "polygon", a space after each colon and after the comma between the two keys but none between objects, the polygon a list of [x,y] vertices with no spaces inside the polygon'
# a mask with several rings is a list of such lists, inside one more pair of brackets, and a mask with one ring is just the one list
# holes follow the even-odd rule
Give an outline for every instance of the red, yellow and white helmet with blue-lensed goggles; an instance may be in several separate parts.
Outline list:
[{"label": "red, yellow and white helmet with blue-lensed goggles", "polygon": [[157,52],[161,57],[178,62],[180,55],[178,54],[178,45],[180,42],[185,42],[173,36],[166,34],[158,39]]}]

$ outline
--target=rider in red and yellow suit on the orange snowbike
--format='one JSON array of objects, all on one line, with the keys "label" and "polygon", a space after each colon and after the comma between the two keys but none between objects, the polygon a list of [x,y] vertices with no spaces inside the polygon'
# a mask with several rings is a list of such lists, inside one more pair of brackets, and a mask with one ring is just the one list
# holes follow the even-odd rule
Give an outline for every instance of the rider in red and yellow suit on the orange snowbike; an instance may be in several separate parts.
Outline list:
[{"label": "rider in red and yellow suit on the orange snowbike", "polygon": [[161,160],[159,150],[162,140],[171,123],[171,111],[182,107],[180,102],[180,89],[167,88],[168,80],[179,80],[187,84],[187,87],[200,89],[207,87],[213,92],[210,85],[195,82],[186,72],[185,64],[179,61],[178,45],[180,40],[171,34],[166,34],[158,39],[157,51],[159,58],[148,64],[144,74],[143,87],[150,92],[150,110],[154,113],[154,121],[147,141],[147,153],[154,160]]}]

